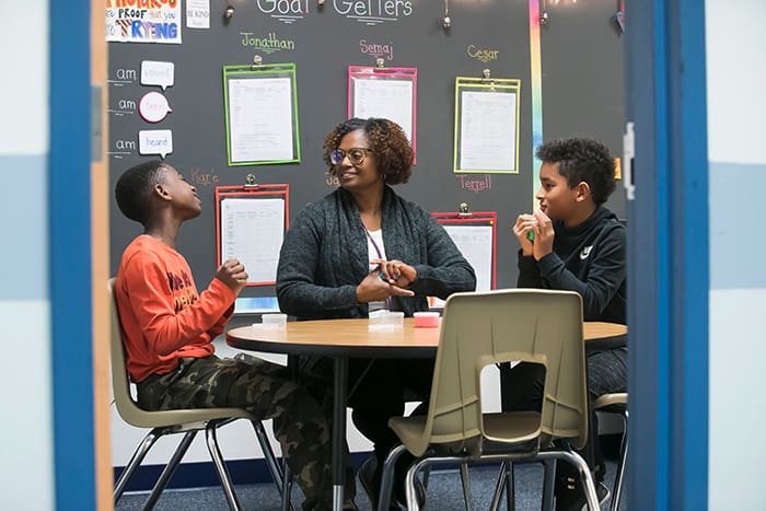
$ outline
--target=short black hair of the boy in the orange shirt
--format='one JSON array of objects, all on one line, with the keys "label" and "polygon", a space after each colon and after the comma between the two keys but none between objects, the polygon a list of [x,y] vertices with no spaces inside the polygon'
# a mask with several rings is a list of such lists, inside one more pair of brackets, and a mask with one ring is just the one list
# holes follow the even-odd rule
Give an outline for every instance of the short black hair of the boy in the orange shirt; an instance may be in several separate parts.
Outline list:
[{"label": "short black hair of the boy in the orange shirt", "polygon": [[117,206],[130,220],[146,225],[151,213],[150,199],[154,187],[162,183],[163,172],[170,165],[153,160],[131,166],[117,179],[115,198]]}]

